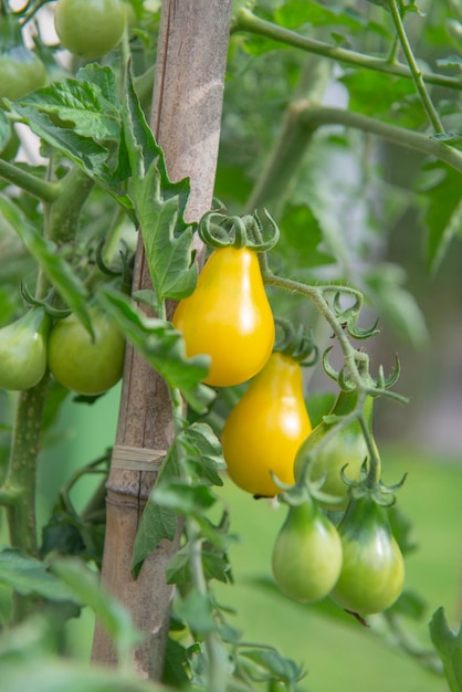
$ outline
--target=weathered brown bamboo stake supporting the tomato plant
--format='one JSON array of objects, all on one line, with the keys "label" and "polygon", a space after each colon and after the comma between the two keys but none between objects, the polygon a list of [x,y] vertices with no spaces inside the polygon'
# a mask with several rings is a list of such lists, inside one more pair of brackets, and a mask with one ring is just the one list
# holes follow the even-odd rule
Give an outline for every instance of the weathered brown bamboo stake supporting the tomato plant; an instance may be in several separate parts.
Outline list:
[{"label": "weathered brown bamboo stake supporting the tomato plant", "polygon": [[[220,137],[231,0],[164,0],[150,126],[172,180],[190,178],[188,221],[210,209]],[[150,286],[143,242],[133,289]],[[172,440],[164,381],[127,348],[119,420],[107,482],[103,584],[133,614],[146,641],[135,649],[135,669],[159,680],[164,668],[172,587],[165,567],[178,548],[162,541],[134,580],[133,544],[161,455]],[[146,470],[149,469],[149,470]],[[153,469],[153,470],[150,470]],[[115,651],[96,626],[93,660],[115,663]]]}]

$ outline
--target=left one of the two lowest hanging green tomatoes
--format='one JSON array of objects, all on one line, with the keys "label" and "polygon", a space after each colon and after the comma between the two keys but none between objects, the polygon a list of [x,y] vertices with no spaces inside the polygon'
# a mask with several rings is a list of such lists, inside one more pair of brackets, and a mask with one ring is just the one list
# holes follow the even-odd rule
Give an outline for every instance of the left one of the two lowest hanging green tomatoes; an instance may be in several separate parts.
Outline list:
[{"label": "left one of the two lowest hanging green tomatoes", "polygon": [[342,568],[342,543],[334,524],[313,500],[291,506],[272,555],[280,589],[301,602],[316,602],[335,586]]}]

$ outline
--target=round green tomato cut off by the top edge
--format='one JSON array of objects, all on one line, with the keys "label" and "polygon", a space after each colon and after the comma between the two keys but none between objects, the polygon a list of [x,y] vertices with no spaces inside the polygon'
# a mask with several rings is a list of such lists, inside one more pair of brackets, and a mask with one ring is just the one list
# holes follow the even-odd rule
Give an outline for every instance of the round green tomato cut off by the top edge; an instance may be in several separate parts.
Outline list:
[{"label": "round green tomato cut off by the top edge", "polygon": [[123,0],[57,0],[54,27],[63,48],[93,60],[117,45],[126,14]]}]

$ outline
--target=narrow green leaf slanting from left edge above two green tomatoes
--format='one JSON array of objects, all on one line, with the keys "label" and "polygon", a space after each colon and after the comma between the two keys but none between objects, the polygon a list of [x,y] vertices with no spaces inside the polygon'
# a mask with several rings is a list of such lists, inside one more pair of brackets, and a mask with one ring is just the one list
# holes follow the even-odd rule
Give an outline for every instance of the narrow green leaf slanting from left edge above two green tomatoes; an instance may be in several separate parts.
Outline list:
[{"label": "narrow green leaf slanting from left edge above two green tomatoes", "polygon": [[42,238],[22,211],[10,199],[1,195],[0,212],[21,238],[32,256],[39,262],[44,274],[50,279],[61,297],[75,313],[88,333],[93,335],[87,306],[87,291],[66,259],[60,254],[55,243]]}]

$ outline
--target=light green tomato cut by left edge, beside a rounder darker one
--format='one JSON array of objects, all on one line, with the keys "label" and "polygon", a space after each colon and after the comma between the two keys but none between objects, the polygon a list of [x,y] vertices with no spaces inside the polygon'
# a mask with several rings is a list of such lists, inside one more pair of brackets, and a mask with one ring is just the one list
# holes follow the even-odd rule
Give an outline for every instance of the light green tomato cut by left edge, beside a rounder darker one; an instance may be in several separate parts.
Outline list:
[{"label": "light green tomato cut by left edge, beside a rounder darker one", "polygon": [[24,390],[46,371],[46,339],[51,318],[43,307],[32,307],[0,329],[0,387]]}]

